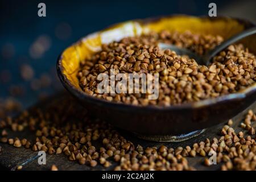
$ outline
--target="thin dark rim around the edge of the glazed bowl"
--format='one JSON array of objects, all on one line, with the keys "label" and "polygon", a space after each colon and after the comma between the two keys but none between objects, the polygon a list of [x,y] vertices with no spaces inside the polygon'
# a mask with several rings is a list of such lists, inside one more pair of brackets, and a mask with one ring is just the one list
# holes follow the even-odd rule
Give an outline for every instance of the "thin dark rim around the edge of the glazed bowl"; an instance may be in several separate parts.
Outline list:
[{"label": "thin dark rim around the edge of the glazed bowl", "polygon": [[[217,20],[217,19],[235,19],[238,22],[241,22],[245,25],[245,28],[253,27],[255,26],[254,23],[250,22],[246,19],[241,18],[233,18],[231,16],[218,16],[218,17],[208,17],[208,16],[191,16],[191,15],[184,15],[184,14],[174,14],[174,15],[167,15],[167,16],[157,16],[154,18],[145,18],[145,19],[134,19],[129,21],[139,22],[142,24],[147,24],[149,22],[155,22],[161,18],[171,18],[174,16],[185,16],[185,17],[195,17],[195,18],[201,18],[201,19],[210,19],[210,20]],[[122,22],[121,22],[122,23]],[[108,30],[110,27],[114,27],[119,23],[112,24],[111,26],[104,28],[103,30]],[[97,31],[100,32],[100,31]],[[92,34],[97,34],[97,32],[93,32]],[[92,35],[88,34],[86,36]],[[75,45],[76,43],[79,43],[82,39],[86,38],[86,36],[82,36],[77,42],[71,44],[68,47],[71,47]],[[66,48],[65,48],[66,49]],[[60,78],[61,83],[63,84],[64,88],[67,89],[69,92],[71,92],[73,95],[75,95],[77,98],[82,100],[87,100],[90,103],[97,104],[97,105],[105,105],[108,107],[115,107],[116,109],[122,110],[122,109],[143,109],[144,111],[152,111],[152,110],[159,110],[159,111],[168,111],[168,110],[180,110],[180,109],[199,109],[200,107],[205,107],[209,105],[218,104],[220,102],[226,102],[226,101],[235,101],[235,100],[242,100],[247,95],[256,93],[256,82],[254,84],[248,86],[245,89],[242,89],[236,93],[231,94],[225,94],[223,96],[218,96],[214,98],[207,98],[205,100],[199,100],[195,102],[188,102],[184,104],[177,104],[177,105],[170,105],[170,106],[159,106],[159,105],[147,105],[147,106],[141,106],[141,105],[131,105],[131,104],[124,104],[122,102],[112,102],[107,101],[104,99],[100,99],[94,96],[90,96],[89,94],[86,94],[85,92],[82,92],[82,90],[77,89],[76,86],[74,86],[71,81],[68,80],[67,76],[64,75],[64,67],[61,63],[63,58],[63,52],[61,51],[60,55],[57,57],[57,75]]]}]

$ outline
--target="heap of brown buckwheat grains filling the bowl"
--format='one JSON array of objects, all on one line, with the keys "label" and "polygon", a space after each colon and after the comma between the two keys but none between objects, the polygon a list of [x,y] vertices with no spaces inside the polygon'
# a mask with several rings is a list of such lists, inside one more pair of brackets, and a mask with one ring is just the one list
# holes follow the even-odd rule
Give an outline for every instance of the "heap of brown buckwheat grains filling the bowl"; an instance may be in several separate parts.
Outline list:
[{"label": "heap of brown buckwheat grains filling the bowl", "polygon": [[[108,101],[132,105],[168,106],[195,102],[234,93],[255,81],[255,55],[241,44],[231,45],[220,52],[207,67],[186,55],[177,55],[170,49],[162,50],[159,42],[189,48],[203,55],[223,41],[221,36],[198,35],[162,31],[123,38],[119,42],[102,45],[102,50],[90,60],[80,63],[77,73],[80,86],[86,94]],[[143,93],[98,93],[97,76],[110,69],[116,73],[159,73],[159,97],[148,100]]]}]

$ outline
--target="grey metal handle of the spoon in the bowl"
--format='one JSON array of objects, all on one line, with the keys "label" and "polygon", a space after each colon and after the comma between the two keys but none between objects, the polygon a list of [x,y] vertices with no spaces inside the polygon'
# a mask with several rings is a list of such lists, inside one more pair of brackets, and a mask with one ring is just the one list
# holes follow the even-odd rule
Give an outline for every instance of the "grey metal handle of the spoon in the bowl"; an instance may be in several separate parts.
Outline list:
[{"label": "grey metal handle of the spoon in the bowl", "polygon": [[230,44],[236,43],[238,40],[241,40],[245,38],[246,36],[256,34],[256,27],[249,28],[245,31],[242,31],[240,34],[232,36],[232,38],[229,38],[228,40],[225,40],[220,45],[218,45],[216,48],[212,49],[212,51],[209,51],[207,55],[205,55],[204,60],[209,63],[209,61],[217,55],[220,51],[228,47]]}]

